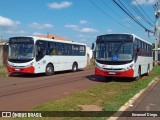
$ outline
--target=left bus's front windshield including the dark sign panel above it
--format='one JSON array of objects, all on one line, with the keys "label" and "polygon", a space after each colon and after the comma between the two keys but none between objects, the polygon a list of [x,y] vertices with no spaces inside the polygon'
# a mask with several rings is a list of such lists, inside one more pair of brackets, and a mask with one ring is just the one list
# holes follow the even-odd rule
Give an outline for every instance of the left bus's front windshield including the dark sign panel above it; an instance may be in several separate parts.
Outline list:
[{"label": "left bus's front windshield including the dark sign panel above it", "polygon": [[[23,38],[21,38],[23,39]],[[30,60],[34,58],[33,41],[11,39],[9,42],[9,60]]]}]

